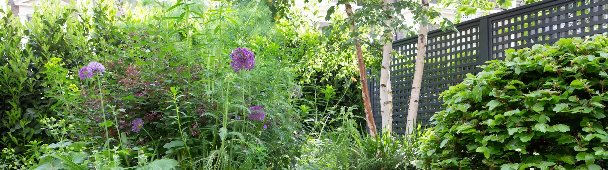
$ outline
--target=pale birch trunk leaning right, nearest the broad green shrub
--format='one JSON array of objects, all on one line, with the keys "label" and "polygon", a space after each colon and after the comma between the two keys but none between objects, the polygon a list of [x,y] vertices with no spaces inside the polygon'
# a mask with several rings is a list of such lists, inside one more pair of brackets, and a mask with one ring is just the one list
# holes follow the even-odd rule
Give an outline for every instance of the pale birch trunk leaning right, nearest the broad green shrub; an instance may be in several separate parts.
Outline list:
[{"label": "pale birch trunk leaning right, nearest the broad green shrub", "polygon": [[[429,10],[429,1],[421,0],[425,10]],[[424,57],[426,56],[426,36],[428,25],[423,25],[420,22],[420,31],[418,33],[418,55],[416,55],[416,67],[414,69],[414,79],[412,82],[412,94],[410,95],[410,106],[407,109],[407,134],[412,134],[416,127],[416,116],[418,116],[418,103],[420,99],[420,86],[422,85],[422,77],[424,72]]]}]

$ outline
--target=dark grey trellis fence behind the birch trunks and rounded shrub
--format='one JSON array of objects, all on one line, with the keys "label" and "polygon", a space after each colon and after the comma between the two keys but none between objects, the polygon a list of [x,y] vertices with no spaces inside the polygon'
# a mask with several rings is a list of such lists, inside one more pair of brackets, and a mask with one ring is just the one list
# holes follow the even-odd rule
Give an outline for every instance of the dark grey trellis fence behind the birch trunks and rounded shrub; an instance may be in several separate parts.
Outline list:
[{"label": "dark grey trellis fence behind the birch trunks and rounded shrub", "polygon": [[[488,60],[504,60],[505,49],[551,44],[559,38],[606,35],[608,0],[545,0],[505,10],[456,25],[460,32],[433,30],[427,39],[418,123],[429,124],[435,112],[444,109],[441,92],[463,81],[467,73]],[[393,42],[402,57],[391,62],[393,131],[403,134],[412,89],[418,36]],[[370,78],[373,114],[381,131],[379,84]]]}]

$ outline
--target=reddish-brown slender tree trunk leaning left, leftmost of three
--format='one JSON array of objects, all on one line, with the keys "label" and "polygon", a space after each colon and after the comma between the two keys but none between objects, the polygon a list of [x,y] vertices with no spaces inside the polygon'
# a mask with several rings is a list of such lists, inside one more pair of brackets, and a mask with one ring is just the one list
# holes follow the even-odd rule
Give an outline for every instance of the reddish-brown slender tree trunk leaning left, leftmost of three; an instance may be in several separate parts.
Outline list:
[{"label": "reddish-brown slender tree trunk leaning left, leftmost of three", "polygon": [[[354,33],[354,18],[353,18],[353,7],[350,3],[344,3],[346,7],[346,13],[350,19],[350,30]],[[367,118],[367,127],[370,129],[370,135],[376,137],[376,123],[374,122],[374,115],[371,112],[370,94],[367,87],[367,73],[365,72],[365,60],[363,60],[363,51],[361,50],[361,41],[354,38],[355,48],[357,50],[357,62],[359,65],[359,82],[361,82],[361,94],[363,95],[363,104],[365,110],[365,118]]]}]

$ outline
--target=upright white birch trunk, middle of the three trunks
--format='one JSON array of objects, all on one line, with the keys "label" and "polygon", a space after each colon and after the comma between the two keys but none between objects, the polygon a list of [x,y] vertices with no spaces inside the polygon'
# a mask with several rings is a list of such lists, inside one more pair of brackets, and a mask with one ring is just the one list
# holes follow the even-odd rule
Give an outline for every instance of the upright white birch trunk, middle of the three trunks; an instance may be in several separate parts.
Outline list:
[{"label": "upright white birch trunk, middle of the three trunks", "polygon": [[[384,5],[389,4],[389,0],[384,0]],[[384,9],[386,10],[386,9]],[[392,30],[390,24],[392,16],[384,23],[389,25],[387,30]],[[382,112],[382,132],[389,135],[393,131],[393,90],[390,83],[390,56],[393,52],[393,33],[389,33],[382,47],[382,67],[380,71],[380,110]]]}]

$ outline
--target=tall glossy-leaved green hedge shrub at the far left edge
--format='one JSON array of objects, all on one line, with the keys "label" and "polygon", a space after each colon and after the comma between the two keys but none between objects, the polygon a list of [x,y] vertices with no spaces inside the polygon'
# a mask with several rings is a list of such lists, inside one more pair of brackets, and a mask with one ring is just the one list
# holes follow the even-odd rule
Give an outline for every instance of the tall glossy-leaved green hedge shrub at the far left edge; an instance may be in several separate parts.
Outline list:
[{"label": "tall glossy-leaved green hedge shrub at the far left edge", "polygon": [[[98,32],[94,15],[103,13],[103,3],[74,4],[74,8],[49,1],[36,7],[32,21],[19,22],[10,10],[0,12],[0,148],[26,152],[29,141],[54,142],[38,121],[62,112],[61,104],[46,98],[47,78],[43,67],[50,58],[63,58],[67,70],[94,57]],[[80,12],[80,17],[73,17]],[[24,39],[27,38],[27,39]],[[24,42],[24,43],[22,43]]]}]

